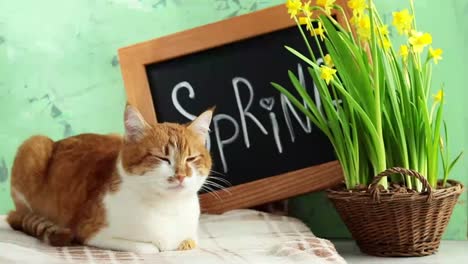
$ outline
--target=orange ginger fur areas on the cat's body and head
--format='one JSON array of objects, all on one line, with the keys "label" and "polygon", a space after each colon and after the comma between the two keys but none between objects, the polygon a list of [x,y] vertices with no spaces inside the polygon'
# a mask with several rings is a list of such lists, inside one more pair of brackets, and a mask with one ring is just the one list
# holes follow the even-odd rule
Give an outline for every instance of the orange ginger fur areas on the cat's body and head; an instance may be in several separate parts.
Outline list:
[{"label": "orange ginger fur areas on the cat's body and head", "polygon": [[[53,246],[86,244],[109,226],[103,197],[120,191],[118,165],[133,175],[129,177],[139,177],[164,162],[160,157],[167,155],[169,146],[176,146],[178,154],[175,174],[167,182],[191,177],[195,169],[200,175],[209,174],[211,157],[205,139],[191,127],[193,122],[149,125],[140,120],[142,127],[136,129],[131,118],[138,121],[140,114],[127,106],[124,137],[80,134],[59,141],[46,136],[27,139],[12,168],[15,209],[7,218],[10,226]],[[194,153],[197,158],[187,162]]]}]

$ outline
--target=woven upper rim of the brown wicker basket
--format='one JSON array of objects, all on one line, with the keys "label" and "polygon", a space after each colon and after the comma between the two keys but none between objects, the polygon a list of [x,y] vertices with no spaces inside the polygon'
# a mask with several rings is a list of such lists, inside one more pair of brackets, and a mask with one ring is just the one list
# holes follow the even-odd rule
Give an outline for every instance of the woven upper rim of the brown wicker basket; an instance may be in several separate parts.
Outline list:
[{"label": "woven upper rim of the brown wicker basket", "polygon": [[[443,199],[448,196],[452,195],[460,195],[464,191],[464,185],[457,180],[447,180],[451,186],[437,188],[433,190],[433,198],[434,199]],[[327,196],[330,199],[365,199],[365,200],[373,200],[372,194],[368,191],[353,191],[350,189],[346,189],[344,184],[340,184],[338,186],[329,188],[326,190]],[[399,192],[392,192],[389,190],[382,191],[380,193],[380,197],[382,201],[390,201],[390,200],[401,200],[401,199],[408,199],[408,200],[426,200],[428,197],[427,192],[414,192],[414,193],[399,193]],[[397,199],[395,199],[397,198]]]}]

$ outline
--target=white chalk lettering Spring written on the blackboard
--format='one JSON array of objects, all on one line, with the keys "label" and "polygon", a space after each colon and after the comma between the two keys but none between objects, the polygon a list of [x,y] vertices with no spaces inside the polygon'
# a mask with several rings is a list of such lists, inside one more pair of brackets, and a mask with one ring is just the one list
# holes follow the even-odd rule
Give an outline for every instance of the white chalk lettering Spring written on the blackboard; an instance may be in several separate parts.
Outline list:
[{"label": "white chalk lettering Spring written on the blackboard", "polygon": [[[323,60],[319,59],[318,63],[321,63]],[[303,67],[298,64],[297,65],[297,74],[298,74],[298,79],[301,85],[306,89],[306,82],[304,78],[304,71]],[[282,139],[281,139],[281,127],[280,125],[283,124],[278,124],[278,122],[282,122],[281,119],[278,120],[276,114],[281,113],[275,113],[275,97],[264,97],[260,98],[257,102],[259,103],[260,107],[265,109],[266,111],[258,111],[254,112],[255,115],[252,113],[252,103],[254,102],[255,99],[255,91],[254,88],[252,87],[252,84],[245,78],[242,77],[234,77],[232,79],[232,87],[234,90],[234,95],[235,95],[235,102],[232,103],[231,106],[226,106],[226,107],[234,107],[239,111],[239,118],[237,119],[237,115],[230,116],[224,113],[218,113],[213,116],[213,133],[210,133],[210,135],[214,135],[214,138],[211,138],[210,136],[207,136],[207,147],[210,149],[211,147],[211,141],[214,141],[217,145],[216,152],[218,152],[219,159],[221,161],[222,169],[224,173],[227,173],[229,171],[229,153],[230,151],[236,152],[238,147],[235,147],[232,145],[232,148],[229,148],[229,144],[233,144],[235,142],[239,142],[237,144],[244,144],[246,148],[250,148],[250,138],[249,138],[249,132],[252,133],[252,129],[256,130],[259,129],[262,134],[267,135],[268,140],[271,140],[271,142],[274,142],[276,145],[276,149],[278,153],[282,154],[284,149],[282,145]],[[183,90],[186,91],[183,91]],[[187,93],[188,92],[188,93]],[[315,85],[313,84],[313,93],[314,93],[314,102],[317,108],[319,109],[320,113],[322,113],[322,104],[320,101],[320,94],[319,91]],[[172,89],[171,93],[171,99],[172,99],[172,104],[174,105],[175,109],[177,110],[178,113],[180,113],[182,116],[187,118],[188,120],[194,120],[196,118],[196,115],[189,113],[186,109],[190,105],[186,105],[184,108],[179,99],[182,99],[183,96],[187,96],[189,99],[192,99],[192,101],[195,100],[195,89],[192,87],[192,85],[187,82],[187,81],[182,81],[178,83],[177,85],[174,86]],[[184,98],[187,99],[187,98]],[[301,115],[300,111],[298,111],[294,105],[289,101],[289,99],[283,95],[279,95],[280,99],[280,105],[276,107],[277,109],[281,107],[281,110],[283,112],[284,120],[286,123],[287,130],[289,132],[289,136],[291,139],[291,142],[295,142],[297,139],[297,135],[295,134],[296,132],[294,131],[294,122],[300,125],[302,130],[309,134],[312,132],[312,125],[311,121],[305,116]],[[182,100],[185,101],[185,100]],[[226,101],[226,100],[225,100]],[[223,101],[224,104],[227,102]],[[191,103],[191,102],[190,102]],[[307,103],[305,100],[302,101],[304,107],[308,107]],[[229,103],[227,103],[229,104]],[[234,106],[234,104],[236,106]],[[280,111],[281,111],[280,110]],[[265,116],[265,114],[268,114],[268,117]],[[267,130],[260,122],[261,119],[257,117],[262,117],[265,118],[262,120],[263,122],[268,122],[268,119],[270,120],[271,123],[271,128]],[[265,124],[268,126],[268,124]],[[269,130],[271,129],[272,132],[272,137],[269,135]],[[249,131],[250,130],[250,131]],[[300,130],[300,129],[298,129]],[[226,132],[227,131],[227,132]],[[285,132],[286,133],[286,132]],[[242,134],[242,135],[241,135]],[[240,137],[243,138],[243,140],[240,139]],[[283,139],[284,140],[284,139]],[[242,146],[241,146],[242,147]],[[262,146],[258,146],[262,147]],[[243,147],[242,147],[243,148]],[[232,150],[231,150],[232,149]],[[230,151],[228,151],[230,150]],[[232,158],[234,159],[234,158]],[[231,161],[232,162],[232,161]]]}]

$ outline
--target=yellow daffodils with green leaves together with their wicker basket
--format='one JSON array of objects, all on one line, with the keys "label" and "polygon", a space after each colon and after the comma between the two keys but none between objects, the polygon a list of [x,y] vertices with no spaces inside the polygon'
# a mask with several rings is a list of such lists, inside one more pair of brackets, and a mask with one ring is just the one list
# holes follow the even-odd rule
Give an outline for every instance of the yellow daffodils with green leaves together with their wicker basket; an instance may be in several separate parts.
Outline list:
[{"label": "yellow daffodils with green leaves together with their wicker basket", "polygon": [[286,48],[308,65],[321,106],[291,71],[296,92],[272,85],[330,140],[345,185],[328,190],[328,197],[361,251],[433,254],[463,191],[448,178],[461,153],[449,160],[444,92],[430,93],[442,50],[418,31],[412,0],[409,10],[393,13],[405,39],[398,50],[372,0],[347,1],[348,11],[335,0],[314,2],[287,1],[309,53]]}]

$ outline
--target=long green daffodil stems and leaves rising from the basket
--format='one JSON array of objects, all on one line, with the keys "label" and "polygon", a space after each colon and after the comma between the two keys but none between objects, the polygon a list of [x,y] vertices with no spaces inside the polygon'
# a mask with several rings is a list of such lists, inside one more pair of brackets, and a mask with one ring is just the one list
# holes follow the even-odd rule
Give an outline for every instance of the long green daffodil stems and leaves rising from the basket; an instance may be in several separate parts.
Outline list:
[{"label": "long green daffodil stems and leaves rising from the basket", "polygon": [[[414,3],[410,1],[414,16]],[[353,13],[353,19],[357,19],[353,25],[339,5],[334,5],[334,9],[344,17],[345,23],[342,24],[326,14],[323,8],[311,7],[326,14],[317,19],[323,25],[326,38],[321,41],[319,36],[313,36],[312,43],[317,45],[319,54],[313,53],[309,36],[306,36],[298,19],[295,20],[310,57],[291,47],[286,46],[286,49],[309,66],[308,73],[322,102],[320,109],[291,71],[288,72],[289,79],[298,96],[279,84],[272,83],[272,86],[329,138],[343,168],[348,189],[368,185],[374,175],[394,166],[415,169],[436,187],[439,160],[445,185],[462,153],[453,160],[448,158],[449,137],[445,123],[441,130],[443,94],[438,95],[432,106],[428,105],[434,58],[429,54],[422,63],[421,52],[415,52],[415,45],[409,45],[408,40],[405,44],[408,54],[400,59],[391,42],[387,45],[390,38],[382,30],[382,19],[373,1],[367,0],[367,3],[364,15],[361,13],[361,17],[356,17]],[[298,11],[294,9],[297,6],[290,8],[290,13]],[[403,20],[399,29],[409,22],[413,23],[412,29],[416,29],[415,19]],[[308,27],[312,28],[312,25]],[[351,27],[356,27],[356,36]],[[409,37],[418,38],[417,35]],[[331,65],[324,67],[318,64],[317,57],[325,55],[321,44],[325,44],[334,69]],[[442,138],[445,138],[447,146],[443,145]],[[413,178],[390,177],[391,181],[400,179],[408,188],[421,189],[421,183]],[[388,180],[381,181],[385,188]]]}]

